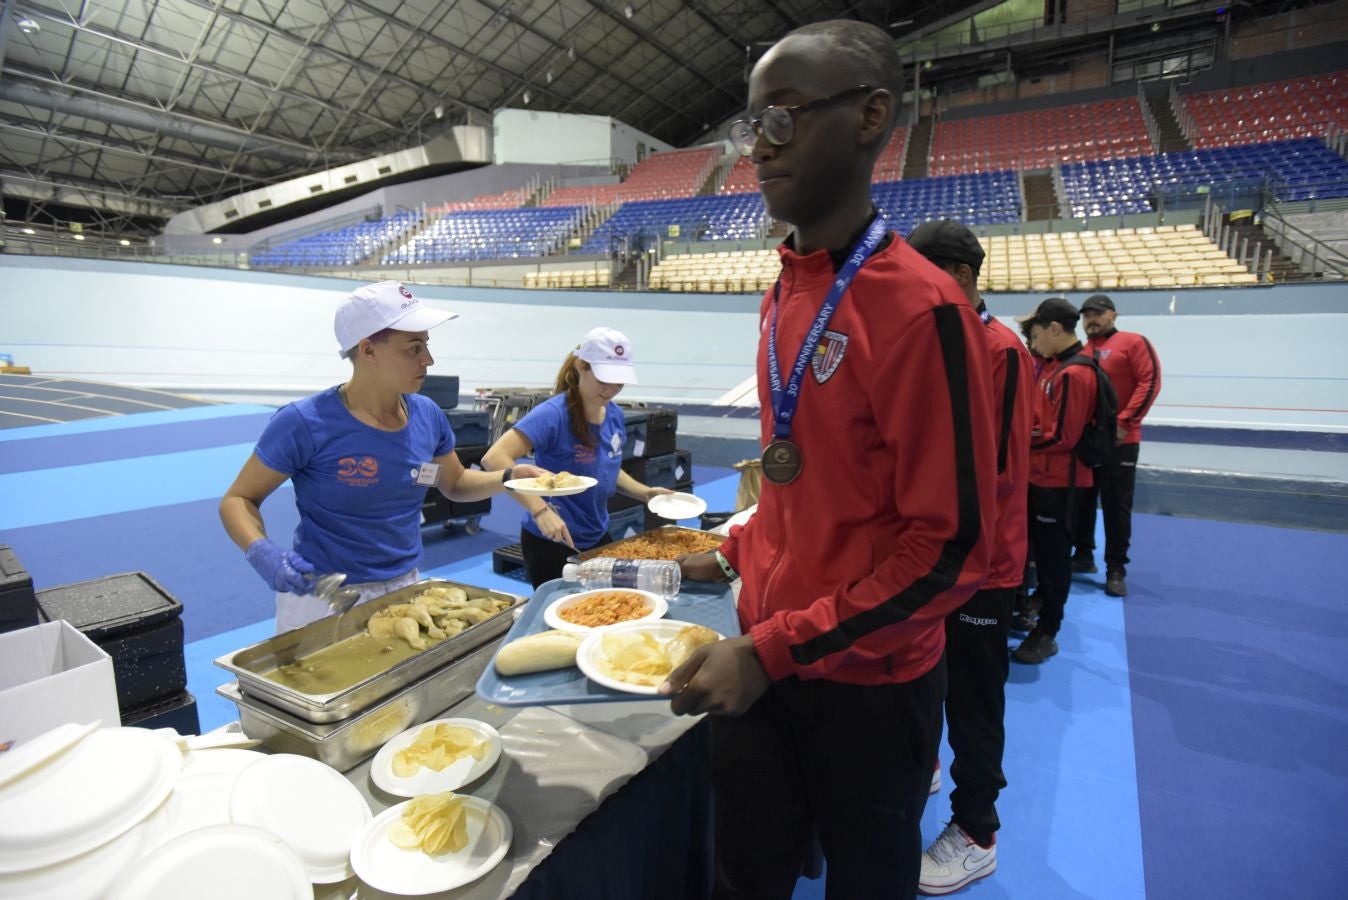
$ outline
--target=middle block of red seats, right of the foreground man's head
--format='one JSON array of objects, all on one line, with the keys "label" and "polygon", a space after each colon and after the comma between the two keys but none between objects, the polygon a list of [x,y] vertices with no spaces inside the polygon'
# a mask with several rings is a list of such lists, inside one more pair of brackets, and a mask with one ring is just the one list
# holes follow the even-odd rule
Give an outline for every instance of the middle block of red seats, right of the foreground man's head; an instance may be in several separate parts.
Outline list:
[{"label": "middle block of red seats, right of the foreground man's head", "polygon": [[1150,154],[1136,97],[937,123],[931,175],[1047,168],[1065,162]]}]

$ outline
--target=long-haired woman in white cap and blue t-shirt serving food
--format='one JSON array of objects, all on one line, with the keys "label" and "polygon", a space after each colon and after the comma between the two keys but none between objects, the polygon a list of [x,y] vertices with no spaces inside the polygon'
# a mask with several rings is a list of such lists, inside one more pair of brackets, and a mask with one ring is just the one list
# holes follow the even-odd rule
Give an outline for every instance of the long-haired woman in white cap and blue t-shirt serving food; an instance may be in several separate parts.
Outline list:
[{"label": "long-haired woman in white cap and blue t-shirt serving food", "polygon": [[495,470],[532,453],[534,462],[545,469],[599,481],[590,490],[554,497],[551,503],[512,494],[524,507],[519,540],[534,587],[559,578],[566,559],[577,550],[604,543],[608,500],[615,492],[642,503],[670,493],[667,488],[648,488],[623,472],[627,424],[613,397],[625,384],[636,384],[631,341],[615,329],[592,329],[566,354],[554,396],[530,410],[483,457],[483,469]]}]

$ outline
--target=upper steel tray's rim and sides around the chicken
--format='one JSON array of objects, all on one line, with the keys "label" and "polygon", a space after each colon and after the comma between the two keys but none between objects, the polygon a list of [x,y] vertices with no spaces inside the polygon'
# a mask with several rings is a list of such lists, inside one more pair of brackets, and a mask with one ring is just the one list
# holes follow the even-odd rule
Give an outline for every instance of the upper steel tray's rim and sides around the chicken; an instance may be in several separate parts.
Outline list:
[{"label": "upper steel tray's rim and sides around the chicken", "polygon": [[[293,687],[263,678],[264,672],[270,672],[278,666],[293,663],[325,647],[332,647],[352,635],[361,633],[365,631],[365,622],[369,617],[380,609],[408,602],[427,587],[439,586],[461,587],[468,593],[469,600],[479,597],[506,600],[510,602],[510,606],[491,618],[472,625],[453,637],[431,644],[415,656],[404,659],[383,672],[340,691],[330,694],[303,694]],[[319,725],[341,722],[371,707],[390,694],[412,684],[427,672],[465,656],[469,651],[481,647],[493,637],[499,637],[510,628],[515,620],[518,606],[523,602],[524,598],[519,594],[506,594],[454,581],[429,578],[415,585],[400,587],[368,604],[361,604],[344,616],[329,616],[317,622],[310,622],[303,628],[268,637],[252,647],[225,653],[216,659],[216,666],[232,672],[239,679],[239,690],[247,697],[257,698],[306,722]]]}]

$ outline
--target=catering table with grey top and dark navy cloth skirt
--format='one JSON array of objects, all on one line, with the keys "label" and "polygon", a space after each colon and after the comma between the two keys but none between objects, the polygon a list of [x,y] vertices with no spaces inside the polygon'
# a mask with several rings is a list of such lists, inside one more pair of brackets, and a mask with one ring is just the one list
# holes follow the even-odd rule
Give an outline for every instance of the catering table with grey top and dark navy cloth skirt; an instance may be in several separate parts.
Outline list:
[{"label": "catering table with grey top and dark navy cloth skirt", "polygon": [[[507,709],[470,697],[441,717],[488,722],[501,759],[461,792],[496,803],[514,826],[506,858],[473,884],[426,895],[453,900],[708,896],[712,882],[706,729],[665,701]],[[402,803],[369,776],[346,777],[371,811]],[[349,878],[315,900],[391,897]]]}]

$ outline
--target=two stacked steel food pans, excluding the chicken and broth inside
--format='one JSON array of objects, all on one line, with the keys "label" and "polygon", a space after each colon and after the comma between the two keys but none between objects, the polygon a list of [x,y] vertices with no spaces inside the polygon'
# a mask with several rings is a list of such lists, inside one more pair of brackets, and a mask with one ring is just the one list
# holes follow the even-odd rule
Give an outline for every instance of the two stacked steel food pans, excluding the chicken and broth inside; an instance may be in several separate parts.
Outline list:
[{"label": "two stacked steel food pans, excluding the chicken and broth inside", "polygon": [[[349,687],[328,694],[305,694],[266,678],[278,666],[303,659],[365,631],[380,609],[410,602],[427,587],[453,586],[470,598],[508,601],[506,610],[464,632],[431,644]],[[259,644],[216,659],[216,666],[237,678],[217,688],[239,706],[248,737],[272,752],[310,756],[346,771],[373,754],[391,737],[419,725],[473,693],[501,635],[524,602],[516,594],[485,590],[450,581],[429,579],[361,604],[345,616],[310,622]]]}]

